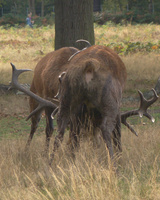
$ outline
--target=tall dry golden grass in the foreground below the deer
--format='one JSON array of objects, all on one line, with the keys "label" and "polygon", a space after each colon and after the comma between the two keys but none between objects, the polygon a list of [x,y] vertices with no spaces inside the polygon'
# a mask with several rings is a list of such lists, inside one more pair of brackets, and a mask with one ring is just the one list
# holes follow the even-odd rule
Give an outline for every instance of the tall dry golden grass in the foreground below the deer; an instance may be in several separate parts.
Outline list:
[{"label": "tall dry golden grass in the foreground below the deer", "polygon": [[72,159],[65,140],[50,168],[43,156],[44,136],[34,139],[30,153],[24,152],[24,136],[2,139],[0,199],[158,200],[159,128],[158,124],[137,126],[138,138],[123,129],[117,174],[112,171],[104,144],[94,148],[92,141],[85,140]]}]

